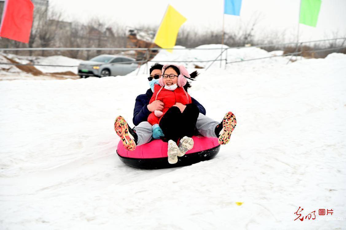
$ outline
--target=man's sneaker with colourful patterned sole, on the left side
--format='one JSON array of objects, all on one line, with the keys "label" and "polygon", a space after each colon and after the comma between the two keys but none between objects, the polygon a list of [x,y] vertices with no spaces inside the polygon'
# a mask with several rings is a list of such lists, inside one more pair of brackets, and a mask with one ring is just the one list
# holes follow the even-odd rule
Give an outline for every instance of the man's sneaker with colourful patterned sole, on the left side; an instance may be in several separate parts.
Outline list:
[{"label": "man's sneaker with colourful patterned sole, on the left side", "polygon": [[128,127],[127,122],[123,117],[119,116],[117,119],[115,119],[114,130],[120,137],[122,144],[127,150],[135,150],[137,134],[134,130]]}]

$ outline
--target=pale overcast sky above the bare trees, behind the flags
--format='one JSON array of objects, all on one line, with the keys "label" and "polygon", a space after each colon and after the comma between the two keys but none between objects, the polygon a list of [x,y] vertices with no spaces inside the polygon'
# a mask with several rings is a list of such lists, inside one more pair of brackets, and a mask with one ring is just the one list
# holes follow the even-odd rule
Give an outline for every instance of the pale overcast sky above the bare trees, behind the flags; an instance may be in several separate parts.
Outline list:
[{"label": "pale overcast sky above the bare trees, behind the flags", "polygon": [[[263,31],[286,31],[286,41],[294,40],[297,34],[300,0],[243,0],[240,17],[225,15],[225,31],[232,30],[241,22],[251,20],[254,14],[261,14],[256,35]],[[63,10],[67,21],[87,21],[98,16],[121,25],[158,26],[166,7],[171,4],[187,18],[185,28],[200,31],[222,29],[224,0],[49,0],[52,7]],[[322,0],[317,27],[300,25],[300,40],[323,39],[346,36],[346,0]]]}]

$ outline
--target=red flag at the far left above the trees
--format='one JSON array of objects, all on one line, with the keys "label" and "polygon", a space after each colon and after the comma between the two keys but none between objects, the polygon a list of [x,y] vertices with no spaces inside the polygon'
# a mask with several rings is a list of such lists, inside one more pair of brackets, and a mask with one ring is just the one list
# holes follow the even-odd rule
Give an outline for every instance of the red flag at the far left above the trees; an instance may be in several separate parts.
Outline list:
[{"label": "red flag at the far left above the trees", "polygon": [[6,0],[0,37],[28,43],[33,25],[34,4],[30,0]]}]

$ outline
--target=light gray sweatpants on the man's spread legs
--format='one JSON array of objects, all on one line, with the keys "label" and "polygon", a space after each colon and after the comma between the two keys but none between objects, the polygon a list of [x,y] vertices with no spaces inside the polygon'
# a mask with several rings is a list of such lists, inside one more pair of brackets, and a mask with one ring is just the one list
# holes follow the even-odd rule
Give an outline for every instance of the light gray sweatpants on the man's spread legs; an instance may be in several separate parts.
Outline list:
[{"label": "light gray sweatpants on the man's spread legs", "polygon": [[[217,137],[215,135],[215,127],[220,122],[214,121],[213,119],[199,113],[196,122],[196,128],[198,132],[204,137]],[[136,134],[138,137],[137,146],[148,143],[152,139],[153,128],[147,121],[142,121],[135,127]]]}]

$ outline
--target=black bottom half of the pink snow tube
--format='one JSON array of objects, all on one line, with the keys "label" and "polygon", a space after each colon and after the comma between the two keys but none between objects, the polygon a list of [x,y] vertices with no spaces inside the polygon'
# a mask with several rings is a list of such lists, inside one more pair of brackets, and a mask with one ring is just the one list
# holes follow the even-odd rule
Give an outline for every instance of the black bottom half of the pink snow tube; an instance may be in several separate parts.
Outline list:
[{"label": "black bottom half of the pink snow tube", "polygon": [[135,168],[144,168],[144,169],[160,169],[160,168],[173,168],[173,167],[181,167],[186,165],[192,165],[203,160],[210,160],[216,156],[220,151],[220,145],[203,150],[197,153],[185,154],[182,157],[178,157],[178,162],[176,164],[168,163],[167,157],[161,158],[148,158],[148,159],[139,159],[139,158],[129,158],[122,157],[117,154],[122,162],[126,165],[135,167]]}]

